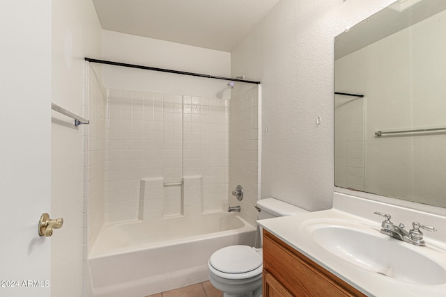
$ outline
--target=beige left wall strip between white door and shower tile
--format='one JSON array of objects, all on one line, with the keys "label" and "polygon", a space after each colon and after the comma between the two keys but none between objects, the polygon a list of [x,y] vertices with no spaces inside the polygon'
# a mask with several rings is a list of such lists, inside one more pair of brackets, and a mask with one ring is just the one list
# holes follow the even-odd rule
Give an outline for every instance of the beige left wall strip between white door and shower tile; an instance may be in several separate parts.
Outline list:
[{"label": "beige left wall strip between white door and shower tile", "polygon": [[[84,56],[100,56],[92,1],[52,1],[52,102],[79,115],[84,115]],[[53,113],[50,214],[63,217],[64,224],[51,239],[52,296],[82,296],[84,129]]]}]

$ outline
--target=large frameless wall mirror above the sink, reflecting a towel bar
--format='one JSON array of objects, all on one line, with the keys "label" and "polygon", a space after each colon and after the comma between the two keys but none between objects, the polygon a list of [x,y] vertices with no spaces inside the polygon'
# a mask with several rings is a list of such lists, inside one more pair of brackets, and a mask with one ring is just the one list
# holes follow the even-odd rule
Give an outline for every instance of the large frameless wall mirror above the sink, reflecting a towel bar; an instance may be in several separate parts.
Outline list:
[{"label": "large frameless wall mirror above the sink, reflecting a towel bar", "polygon": [[446,1],[399,0],[334,40],[334,184],[446,207]]}]

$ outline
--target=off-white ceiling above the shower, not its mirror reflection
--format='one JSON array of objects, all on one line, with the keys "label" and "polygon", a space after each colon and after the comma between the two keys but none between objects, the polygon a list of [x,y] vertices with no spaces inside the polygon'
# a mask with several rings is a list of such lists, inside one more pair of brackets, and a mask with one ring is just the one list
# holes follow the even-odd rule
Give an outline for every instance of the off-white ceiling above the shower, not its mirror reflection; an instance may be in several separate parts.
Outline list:
[{"label": "off-white ceiling above the shower, not its mirror reflection", "polygon": [[93,0],[102,29],[231,51],[279,0]]}]

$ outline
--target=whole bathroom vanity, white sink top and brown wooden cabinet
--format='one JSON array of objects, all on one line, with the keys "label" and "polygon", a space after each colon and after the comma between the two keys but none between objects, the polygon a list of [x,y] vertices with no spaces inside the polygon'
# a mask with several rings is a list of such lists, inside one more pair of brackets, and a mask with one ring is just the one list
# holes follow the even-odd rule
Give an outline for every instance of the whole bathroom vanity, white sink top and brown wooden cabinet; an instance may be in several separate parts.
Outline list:
[{"label": "whole bathroom vanity, white sink top and brown wooden cabinet", "polygon": [[[396,229],[438,232],[423,230],[416,246],[383,234],[389,223],[375,211]],[[263,296],[446,296],[445,216],[334,193],[332,209],[258,223]]]}]

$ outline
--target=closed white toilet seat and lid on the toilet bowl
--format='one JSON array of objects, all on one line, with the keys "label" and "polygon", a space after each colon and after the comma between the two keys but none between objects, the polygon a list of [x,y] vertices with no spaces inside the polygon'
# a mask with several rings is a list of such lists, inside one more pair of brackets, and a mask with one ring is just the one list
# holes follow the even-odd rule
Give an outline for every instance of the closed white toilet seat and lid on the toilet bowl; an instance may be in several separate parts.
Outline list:
[{"label": "closed white toilet seat and lid on the toilet bowl", "polygon": [[250,246],[226,246],[210,256],[208,267],[220,278],[240,280],[261,274],[263,259]]}]

